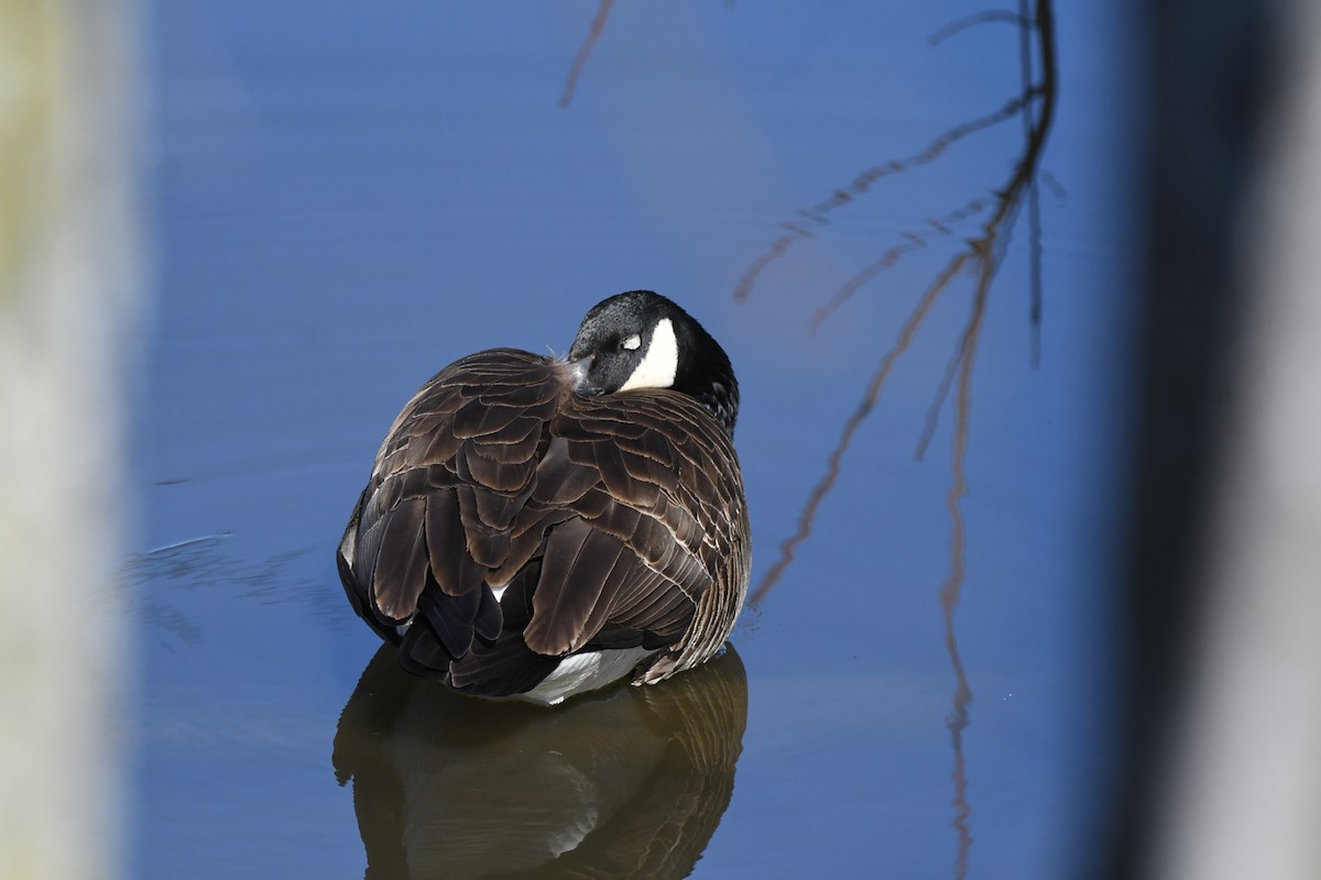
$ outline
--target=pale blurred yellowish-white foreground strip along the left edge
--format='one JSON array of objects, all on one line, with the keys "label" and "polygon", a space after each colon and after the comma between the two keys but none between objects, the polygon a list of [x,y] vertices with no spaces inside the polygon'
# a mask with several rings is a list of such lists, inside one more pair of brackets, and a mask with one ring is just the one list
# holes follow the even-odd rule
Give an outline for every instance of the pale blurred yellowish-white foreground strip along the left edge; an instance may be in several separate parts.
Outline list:
[{"label": "pale blurred yellowish-white foreground strip along the left edge", "polygon": [[124,873],[129,0],[0,3],[0,876]]}]

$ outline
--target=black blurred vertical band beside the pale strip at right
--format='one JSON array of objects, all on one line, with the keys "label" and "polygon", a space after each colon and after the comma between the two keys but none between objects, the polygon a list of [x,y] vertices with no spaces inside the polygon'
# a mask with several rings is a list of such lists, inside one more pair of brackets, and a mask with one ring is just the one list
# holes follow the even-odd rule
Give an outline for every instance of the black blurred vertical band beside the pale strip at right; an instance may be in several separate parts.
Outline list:
[{"label": "black blurred vertical band beside the pale strip at right", "polygon": [[1205,598],[1196,563],[1239,323],[1232,243],[1266,88],[1262,5],[1144,4],[1147,296],[1125,615],[1129,770],[1115,877],[1133,876],[1149,844],[1153,789]]}]

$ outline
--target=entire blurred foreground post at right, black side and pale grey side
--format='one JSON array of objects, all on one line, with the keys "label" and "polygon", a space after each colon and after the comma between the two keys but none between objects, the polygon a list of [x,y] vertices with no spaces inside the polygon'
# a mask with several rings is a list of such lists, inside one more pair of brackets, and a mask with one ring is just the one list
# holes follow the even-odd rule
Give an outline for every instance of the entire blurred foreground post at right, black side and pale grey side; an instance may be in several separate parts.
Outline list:
[{"label": "entire blurred foreground post at right, black side and pale grey side", "polygon": [[1127,773],[1103,875],[1317,876],[1321,16],[1143,8]]}]

